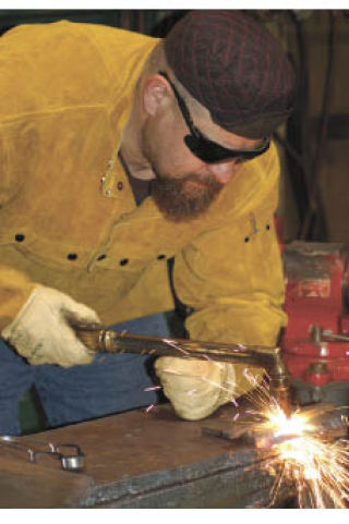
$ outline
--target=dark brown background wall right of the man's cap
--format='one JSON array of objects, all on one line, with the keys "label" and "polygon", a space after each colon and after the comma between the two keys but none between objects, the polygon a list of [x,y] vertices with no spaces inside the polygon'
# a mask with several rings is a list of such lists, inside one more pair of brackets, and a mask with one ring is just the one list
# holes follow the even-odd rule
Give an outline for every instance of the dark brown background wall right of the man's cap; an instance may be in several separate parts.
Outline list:
[{"label": "dark brown background wall right of the man's cap", "polygon": [[[296,69],[294,113],[277,136],[284,241],[349,246],[349,11],[264,11]],[[287,146],[287,147],[285,147]]]}]

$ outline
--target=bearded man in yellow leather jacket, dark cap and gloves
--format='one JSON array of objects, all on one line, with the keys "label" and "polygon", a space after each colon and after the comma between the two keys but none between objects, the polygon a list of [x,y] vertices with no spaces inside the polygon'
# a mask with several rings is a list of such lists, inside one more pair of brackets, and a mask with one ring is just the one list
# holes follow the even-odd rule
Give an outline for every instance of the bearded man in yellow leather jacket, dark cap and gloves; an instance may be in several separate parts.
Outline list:
[{"label": "bearded man in yellow leather jacket, dark cap and gloves", "polygon": [[[164,41],[20,26],[2,37],[0,78],[2,434],[20,432],[32,383],[50,426],[154,401],[143,356],[94,358],[75,328],[146,332],[148,315],[173,308],[172,257],[191,338],[276,342],[285,314],[269,141],[293,77],[258,23],[193,11]],[[161,357],[156,373],[189,419],[253,387],[241,365]]]}]

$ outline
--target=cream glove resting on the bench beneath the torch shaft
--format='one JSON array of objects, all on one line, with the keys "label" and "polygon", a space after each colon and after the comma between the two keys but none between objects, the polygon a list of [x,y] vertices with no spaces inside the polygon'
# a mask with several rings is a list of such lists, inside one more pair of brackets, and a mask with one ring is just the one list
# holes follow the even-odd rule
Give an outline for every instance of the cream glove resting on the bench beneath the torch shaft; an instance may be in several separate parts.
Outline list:
[{"label": "cream glove resting on the bench beneath the torch shaft", "polygon": [[244,364],[161,356],[155,362],[164,393],[176,413],[186,421],[200,421],[236,397],[255,389],[264,370]]}]

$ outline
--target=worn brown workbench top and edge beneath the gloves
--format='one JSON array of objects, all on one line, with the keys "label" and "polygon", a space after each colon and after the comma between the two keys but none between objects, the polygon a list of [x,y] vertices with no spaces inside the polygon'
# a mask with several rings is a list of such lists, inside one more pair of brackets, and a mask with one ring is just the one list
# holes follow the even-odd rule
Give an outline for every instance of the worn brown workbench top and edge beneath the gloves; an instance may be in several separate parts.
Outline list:
[{"label": "worn brown workbench top and edge beneath the gloves", "polygon": [[266,458],[253,446],[203,435],[203,426],[231,413],[225,406],[185,422],[165,404],[31,436],[81,446],[81,472],[0,447],[0,507],[264,508],[274,482],[260,467]]}]

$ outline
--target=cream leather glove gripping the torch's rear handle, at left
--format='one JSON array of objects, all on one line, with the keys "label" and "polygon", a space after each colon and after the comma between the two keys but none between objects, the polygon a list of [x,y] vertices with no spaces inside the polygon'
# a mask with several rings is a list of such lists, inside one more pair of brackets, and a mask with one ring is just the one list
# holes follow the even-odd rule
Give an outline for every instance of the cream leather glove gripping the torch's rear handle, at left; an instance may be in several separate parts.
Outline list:
[{"label": "cream leather glove gripping the torch's rear handle, at left", "polygon": [[16,318],[1,332],[29,364],[62,367],[89,364],[94,356],[71,326],[100,324],[89,307],[60,291],[36,285]]}]

